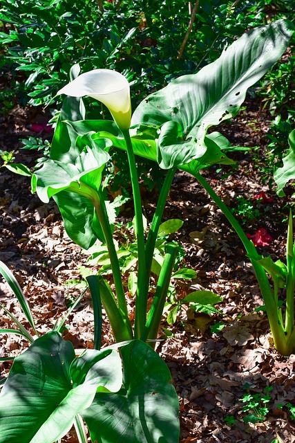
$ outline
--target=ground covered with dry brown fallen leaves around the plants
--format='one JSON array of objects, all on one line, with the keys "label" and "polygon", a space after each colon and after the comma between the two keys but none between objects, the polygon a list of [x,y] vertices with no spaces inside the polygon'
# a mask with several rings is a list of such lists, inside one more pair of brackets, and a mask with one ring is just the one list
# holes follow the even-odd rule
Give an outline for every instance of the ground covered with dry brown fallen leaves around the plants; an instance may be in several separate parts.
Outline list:
[{"label": "ground covered with dry brown fallen leaves around the plants", "polygon": [[[220,130],[233,145],[265,146],[267,118],[255,102],[249,102],[248,111],[240,113],[236,123]],[[36,114],[18,108],[8,118],[1,118],[1,150],[17,149],[19,138],[25,136],[46,138],[44,132],[38,135],[32,131],[32,125],[44,123],[44,119],[41,111]],[[35,156],[17,149],[17,161],[32,165]],[[245,222],[241,219],[246,232],[257,235],[258,229],[265,229],[272,239],[267,237],[258,251],[284,260],[287,223],[283,219],[287,218],[290,197],[278,199],[274,190],[258,182],[257,163],[259,157],[263,159],[263,150],[256,156],[254,152],[241,152],[234,157],[239,161],[238,169],[223,168],[220,172],[212,168],[204,172],[204,177],[230,208],[237,207],[238,196],[253,204],[258,216],[248,217]],[[87,256],[67,237],[55,204],[44,205],[30,193],[28,178],[2,168],[0,189],[0,260],[15,273],[35,314],[37,328],[45,333],[82,291],[66,286],[66,282],[79,280],[79,266],[86,266]],[[255,199],[261,191],[265,192],[265,201]],[[147,215],[155,199],[154,193],[144,195]],[[125,208],[120,217],[132,217],[129,212]],[[184,173],[177,175],[169,195],[164,219],[171,218],[184,221],[176,238],[184,247],[187,266],[198,273],[196,280],[178,284],[178,296],[209,289],[223,299],[218,305],[222,314],[208,316],[183,307],[174,325],[163,321],[172,336],[160,341],[158,352],[169,365],[180,399],[180,442],[271,443],[276,433],[284,443],[295,442],[295,421],[287,407],[288,403],[295,406],[295,356],[283,357],[274,350],[265,314],[255,311],[263,300],[240,240],[195,179]],[[0,302],[25,321],[3,282]],[[132,313],[131,296],[129,304]],[[220,332],[211,330],[216,323],[224,324]],[[0,327],[12,327],[3,311]],[[93,315],[88,294],[71,314],[67,328],[64,338],[75,347],[92,346]],[[103,343],[111,341],[111,330],[105,322]],[[1,356],[16,356],[24,347],[26,343],[19,336],[1,336]],[[9,368],[10,363],[1,363],[1,374],[5,376]],[[270,399],[265,419],[245,423],[242,396],[265,394],[269,386],[272,390],[267,392]],[[64,441],[77,442],[75,433],[69,433]]]}]

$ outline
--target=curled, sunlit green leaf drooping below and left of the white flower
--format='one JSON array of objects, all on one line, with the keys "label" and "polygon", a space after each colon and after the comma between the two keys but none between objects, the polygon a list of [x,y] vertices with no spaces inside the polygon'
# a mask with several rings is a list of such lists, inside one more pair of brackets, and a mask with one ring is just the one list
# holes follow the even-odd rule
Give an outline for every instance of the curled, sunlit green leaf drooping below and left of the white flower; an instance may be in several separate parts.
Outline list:
[{"label": "curled, sunlit green leaf drooping below and left of the white flower", "polygon": [[109,159],[106,150],[111,146],[108,138],[94,140],[93,134],[76,133],[75,153],[79,154],[74,163],[49,159],[32,177],[32,189],[42,201],[54,197],[68,236],[86,249],[96,237],[104,241],[93,204],[100,198],[102,170]]}]

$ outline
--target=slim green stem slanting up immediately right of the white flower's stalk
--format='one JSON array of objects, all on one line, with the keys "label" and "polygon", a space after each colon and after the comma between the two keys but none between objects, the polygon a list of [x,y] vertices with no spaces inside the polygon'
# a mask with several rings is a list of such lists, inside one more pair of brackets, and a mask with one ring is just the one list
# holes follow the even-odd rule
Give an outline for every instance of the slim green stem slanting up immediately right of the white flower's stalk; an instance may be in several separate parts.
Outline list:
[{"label": "slim green stem slanting up immediately right of the white flower's stalk", "polygon": [[[151,222],[151,228],[149,230],[149,235],[146,240],[146,275],[151,274],[151,265],[153,262],[153,252],[155,249],[155,242],[157,240],[158,230],[160,223],[162,221],[162,216],[164,212],[164,208],[166,205],[166,200],[168,197],[169,190],[171,188],[171,183],[173,181],[173,177],[175,176],[176,168],[171,168],[168,170],[166,177],[164,179],[164,183],[160,192],[160,196],[158,199],[157,207],[155,208],[155,213],[153,215],[153,220]],[[149,280],[147,280],[147,284],[149,284]],[[149,291],[149,287],[146,289]]]}]

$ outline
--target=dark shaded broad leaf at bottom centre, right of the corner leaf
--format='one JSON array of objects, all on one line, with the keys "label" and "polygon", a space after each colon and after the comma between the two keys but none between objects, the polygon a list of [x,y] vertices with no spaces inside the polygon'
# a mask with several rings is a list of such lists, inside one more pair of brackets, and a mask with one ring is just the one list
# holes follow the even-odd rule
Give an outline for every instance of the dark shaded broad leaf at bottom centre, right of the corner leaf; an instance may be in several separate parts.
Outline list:
[{"label": "dark shaded broad leaf at bottom centre, right of the corner leaf", "polygon": [[122,347],[123,388],[98,393],[82,411],[91,440],[100,443],[177,443],[178,396],[166,364],[146,343]]}]

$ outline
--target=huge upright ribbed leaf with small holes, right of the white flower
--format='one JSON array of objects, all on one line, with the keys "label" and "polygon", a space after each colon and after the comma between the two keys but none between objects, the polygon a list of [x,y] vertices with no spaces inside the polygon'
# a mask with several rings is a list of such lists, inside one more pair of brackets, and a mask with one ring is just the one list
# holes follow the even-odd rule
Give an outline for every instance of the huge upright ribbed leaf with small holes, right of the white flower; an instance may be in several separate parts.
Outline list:
[{"label": "huge upright ribbed leaf with small holes, right of the white flower", "polygon": [[158,163],[169,169],[200,159],[207,128],[236,116],[247,89],[287,48],[294,27],[287,20],[249,30],[198,73],[182,75],[143,100],[133,127],[160,128]]}]

